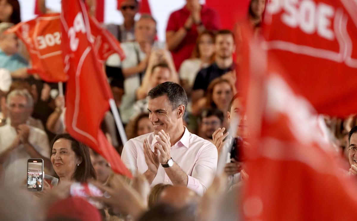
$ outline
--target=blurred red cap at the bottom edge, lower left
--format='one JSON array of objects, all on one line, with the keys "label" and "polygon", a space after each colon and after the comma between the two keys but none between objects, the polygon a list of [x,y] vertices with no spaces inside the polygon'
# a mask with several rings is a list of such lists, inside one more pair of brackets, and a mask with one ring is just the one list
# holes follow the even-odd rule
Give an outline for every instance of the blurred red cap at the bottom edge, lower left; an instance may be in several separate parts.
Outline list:
[{"label": "blurred red cap at the bottom edge, lower left", "polygon": [[101,221],[100,212],[81,197],[59,200],[47,211],[47,219],[66,217],[82,221]]}]

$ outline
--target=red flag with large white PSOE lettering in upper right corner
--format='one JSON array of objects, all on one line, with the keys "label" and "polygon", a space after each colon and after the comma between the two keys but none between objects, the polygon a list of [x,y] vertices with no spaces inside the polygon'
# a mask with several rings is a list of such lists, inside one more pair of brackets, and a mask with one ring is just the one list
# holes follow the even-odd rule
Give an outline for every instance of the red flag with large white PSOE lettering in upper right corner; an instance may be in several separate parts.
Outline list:
[{"label": "red flag with large white PSOE lettering in upper right corner", "polygon": [[[268,60],[275,57],[293,90],[319,113],[357,112],[357,2],[271,0],[264,31]],[[268,69],[274,67],[268,64]]]}]

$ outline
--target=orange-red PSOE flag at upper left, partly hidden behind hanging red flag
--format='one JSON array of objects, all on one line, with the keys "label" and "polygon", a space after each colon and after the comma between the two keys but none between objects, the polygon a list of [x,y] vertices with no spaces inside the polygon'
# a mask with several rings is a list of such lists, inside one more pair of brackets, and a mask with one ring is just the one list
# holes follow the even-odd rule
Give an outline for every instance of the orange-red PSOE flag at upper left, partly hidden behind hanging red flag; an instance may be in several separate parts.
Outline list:
[{"label": "orange-red PSOE flag at upper left, partly hidden behind hanging red flag", "polygon": [[[94,50],[100,60],[106,60],[111,54],[118,53],[124,59],[120,43],[99,22],[90,17]],[[61,51],[60,14],[44,14],[33,20],[20,22],[8,32],[15,32],[25,43],[30,54],[29,73],[39,74],[47,82],[66,81]]]}]

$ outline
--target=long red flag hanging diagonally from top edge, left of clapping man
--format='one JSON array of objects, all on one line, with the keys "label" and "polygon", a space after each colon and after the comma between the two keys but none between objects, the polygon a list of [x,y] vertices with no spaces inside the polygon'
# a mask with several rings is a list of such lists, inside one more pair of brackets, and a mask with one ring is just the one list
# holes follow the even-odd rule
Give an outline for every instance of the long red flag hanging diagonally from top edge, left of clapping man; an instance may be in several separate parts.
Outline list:
[{"label": "long red flag hanging diagonally from top edge, left of clapping man", "polygon": [[69,75],[67,131],[102,155],[115,172],[131,177],[120,155],[99,128],[112,94],[95,55],[90,20],[82,1],[62,0],[61,30],[65,71]]}]

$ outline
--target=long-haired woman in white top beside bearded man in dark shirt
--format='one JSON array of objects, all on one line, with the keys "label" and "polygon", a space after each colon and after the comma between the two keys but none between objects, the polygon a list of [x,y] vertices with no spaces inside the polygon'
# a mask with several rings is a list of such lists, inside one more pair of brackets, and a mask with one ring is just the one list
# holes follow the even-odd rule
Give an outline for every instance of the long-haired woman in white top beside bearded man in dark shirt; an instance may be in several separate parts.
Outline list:
[{"label": "long-haired woman in white top beside bearded man in dark shirt", "polygon": [[181,79],[181,86],[185,89],[187,96],[190,96],[197,72],[208,67],[214,60],[214,37],[211,31],[203,31],[197,38],[196,46],[192,52],[192,58],[182,62],[178,71]]}]

